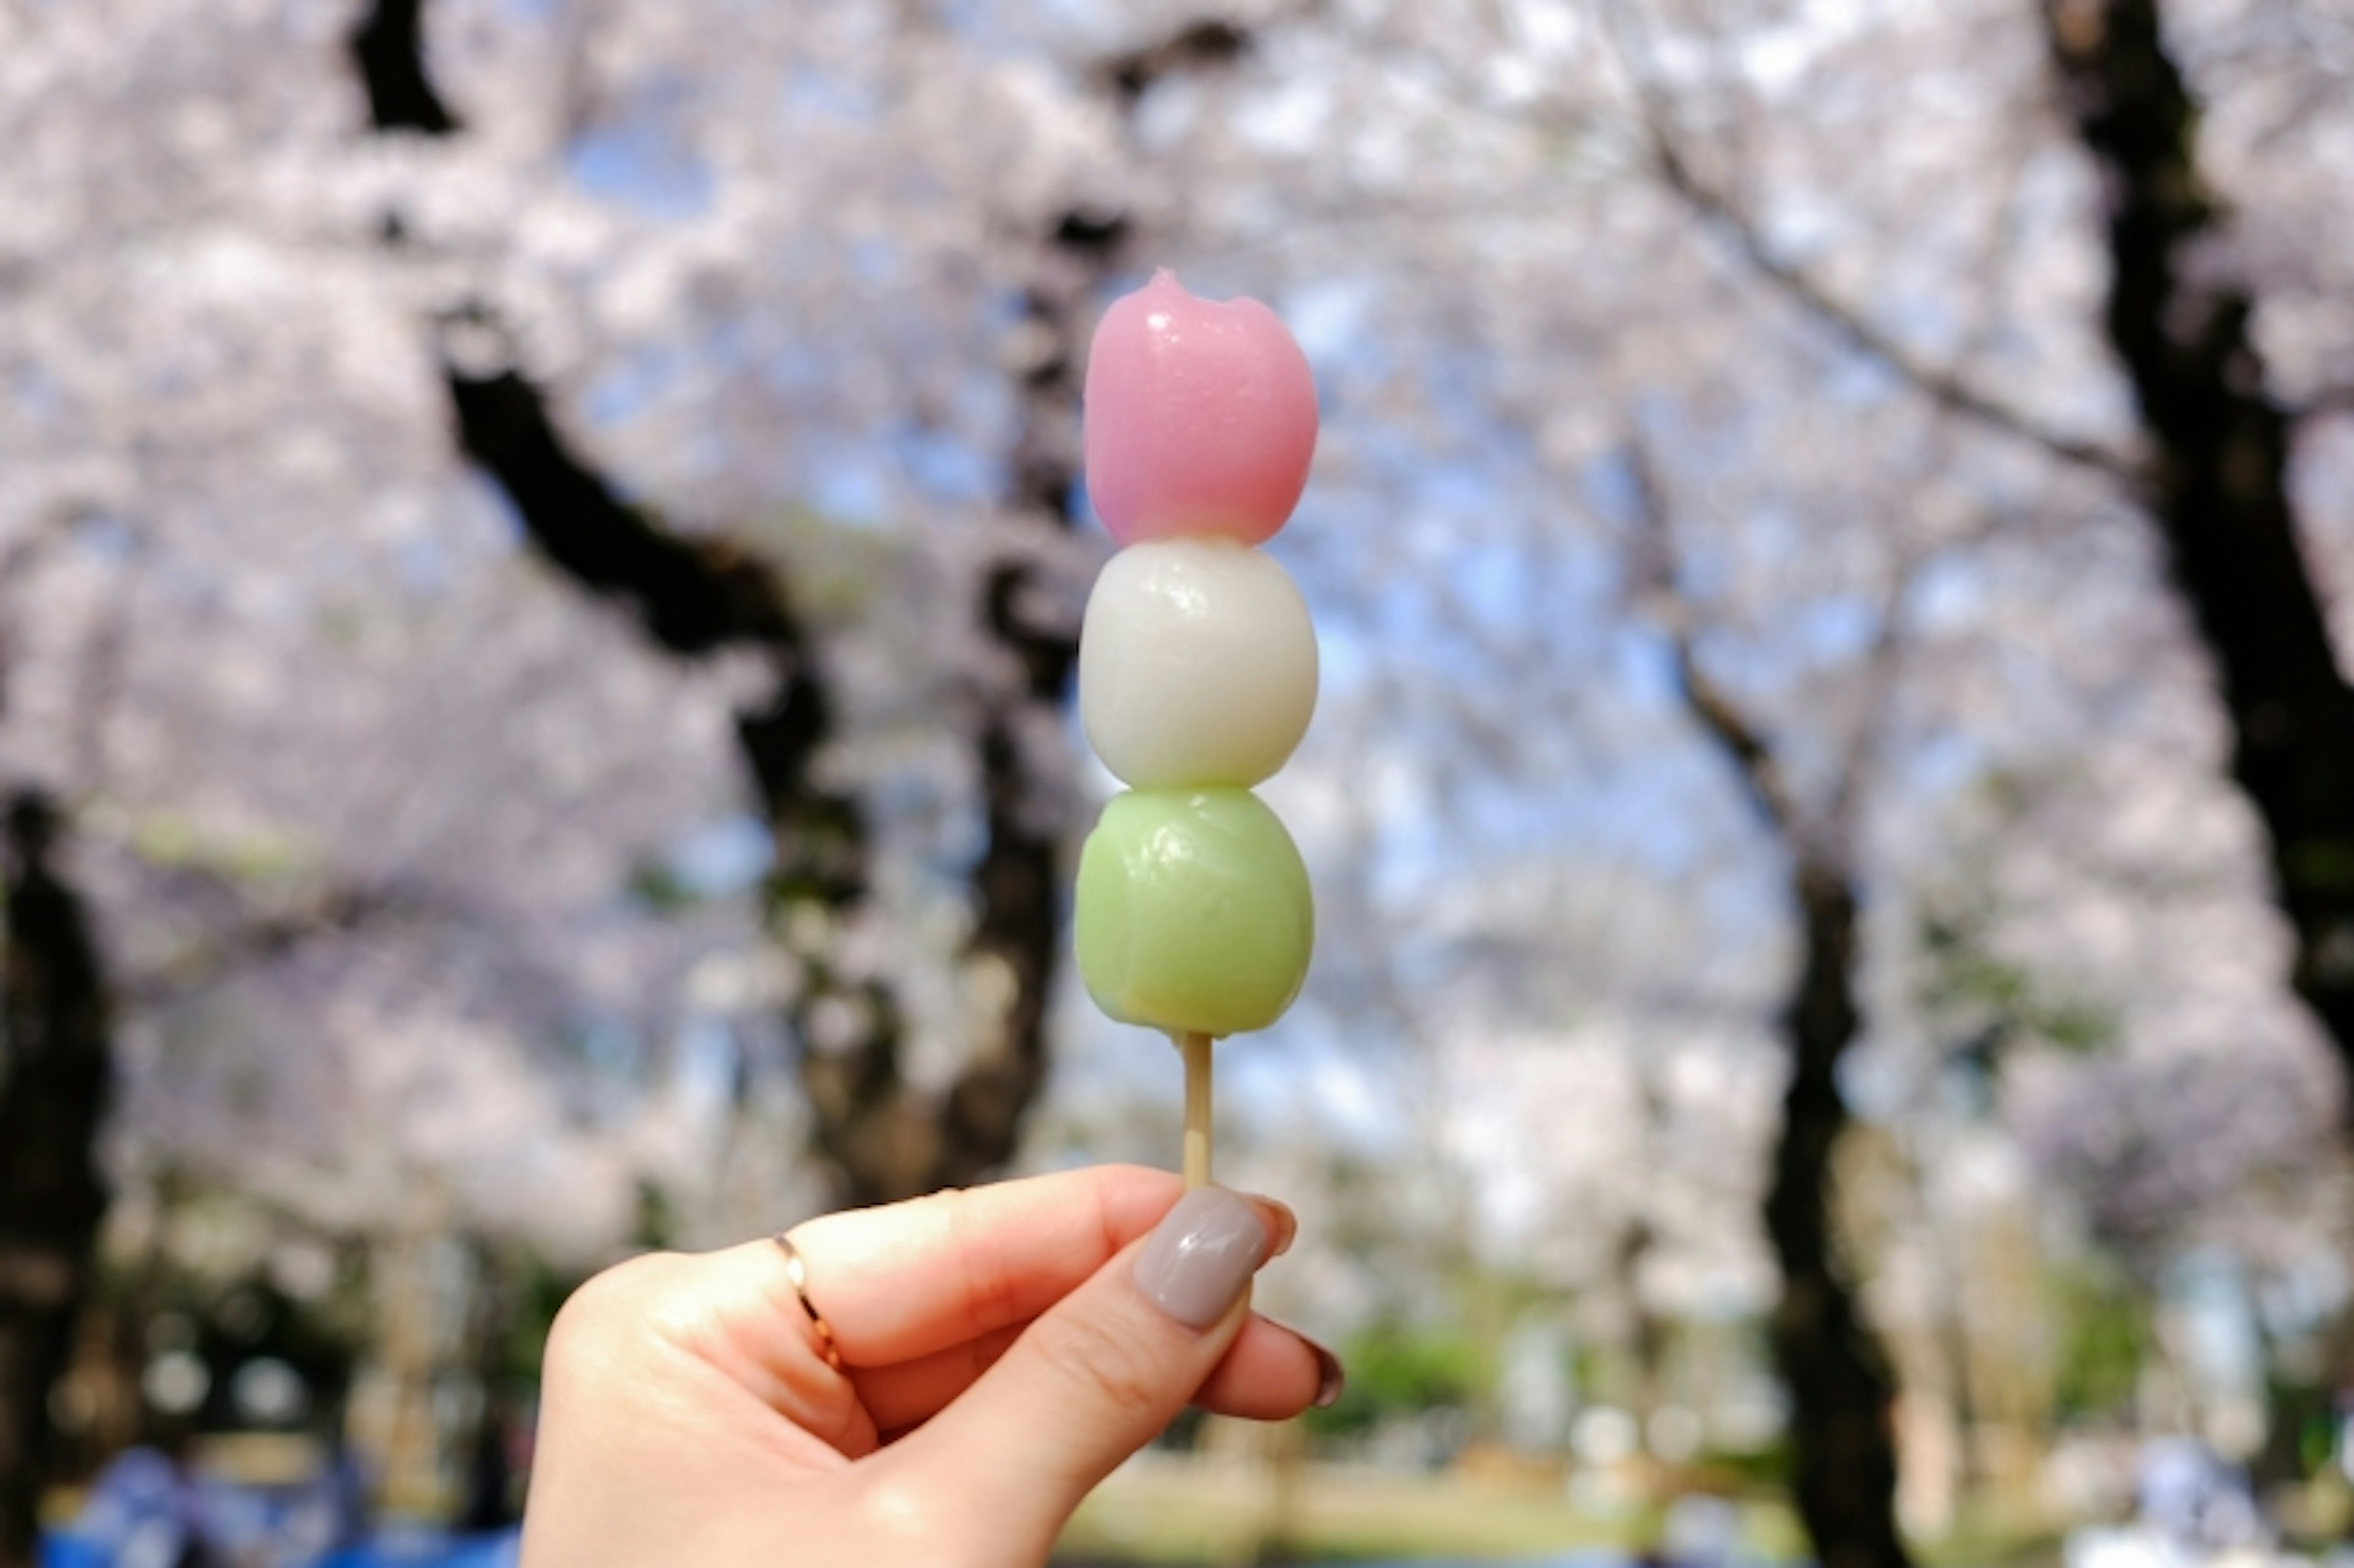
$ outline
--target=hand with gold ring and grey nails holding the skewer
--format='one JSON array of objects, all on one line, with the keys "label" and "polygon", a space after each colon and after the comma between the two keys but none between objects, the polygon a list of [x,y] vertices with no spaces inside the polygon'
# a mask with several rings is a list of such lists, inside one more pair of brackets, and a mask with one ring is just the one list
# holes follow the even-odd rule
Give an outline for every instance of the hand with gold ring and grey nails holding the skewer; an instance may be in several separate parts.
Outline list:
[{"label": "hand with gold ring and grey nails holding the skewer", "polygon": [[1330,1351],[1248,1311],[1292,1215],[1104,1165],[636,1257],[556,1318],[523,1568],[1043,1563],[1186,1401],[1285,1420]]}]

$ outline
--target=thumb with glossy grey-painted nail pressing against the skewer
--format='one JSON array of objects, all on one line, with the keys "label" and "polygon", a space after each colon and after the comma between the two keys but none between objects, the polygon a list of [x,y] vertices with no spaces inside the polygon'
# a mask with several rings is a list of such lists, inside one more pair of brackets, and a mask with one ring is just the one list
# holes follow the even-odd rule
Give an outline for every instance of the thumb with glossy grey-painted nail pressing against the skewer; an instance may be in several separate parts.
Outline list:
[{"label": "thumb with glossy grey-painted nail pressing against the skewer", "polygon": [[[970,1502],[991,1533],[1038,1556],[1121,1460],[1184,1410],[1245,1318],[1266,1222],[1224,1187],[1198,1187],[1022,1337],[963,1398],[892,1455],[932,1495]],[[1012,1544],[1012,1542],[1008,1542]]]}]

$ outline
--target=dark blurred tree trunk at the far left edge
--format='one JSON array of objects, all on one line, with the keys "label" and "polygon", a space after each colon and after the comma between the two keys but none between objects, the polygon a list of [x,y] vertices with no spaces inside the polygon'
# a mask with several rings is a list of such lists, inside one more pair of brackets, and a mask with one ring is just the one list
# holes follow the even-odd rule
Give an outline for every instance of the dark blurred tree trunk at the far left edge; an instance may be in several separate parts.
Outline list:
[{"label": "dark blurred tree trunk at the far left edge", "polygon": [[97,1142],[111,1085],[106,986],[82,899],[52,864],[56,815],[7,815],[0,975],[0,1568],[31,1568],[52,1464],[49,1391],[73,1358],[106,1215]]}]

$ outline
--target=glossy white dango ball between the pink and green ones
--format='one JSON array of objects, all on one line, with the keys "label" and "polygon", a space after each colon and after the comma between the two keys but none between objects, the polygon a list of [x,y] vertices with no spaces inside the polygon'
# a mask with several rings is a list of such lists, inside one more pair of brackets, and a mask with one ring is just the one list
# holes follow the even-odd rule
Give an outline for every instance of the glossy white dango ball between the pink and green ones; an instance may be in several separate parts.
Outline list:
[{"label": "glossy white dango ball between the pink and green ones", "polygon": [[1297,584],[1231,539],[1149,539],[1111,558],[1078,638],[1078,718],[1132,789],[1271,777],[1316,711],[1316,629]]}]

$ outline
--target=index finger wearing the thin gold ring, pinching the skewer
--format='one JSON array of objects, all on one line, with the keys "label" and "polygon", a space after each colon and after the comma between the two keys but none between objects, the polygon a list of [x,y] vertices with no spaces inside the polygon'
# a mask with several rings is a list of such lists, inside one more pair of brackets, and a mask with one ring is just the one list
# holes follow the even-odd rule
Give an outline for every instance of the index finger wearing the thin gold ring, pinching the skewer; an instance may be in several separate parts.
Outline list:
[{"label": "index finger wearing the thin gold ring, pinching the skewer", "polygon": [[[1182,1191],[1168,1170],[1090,1165],[822,1215],[791,1241],[843,1361],[890,1366],[1036,1318],[1153,1229]],[[1290,1210],[1252,1203],[1281,1253]]]}]

